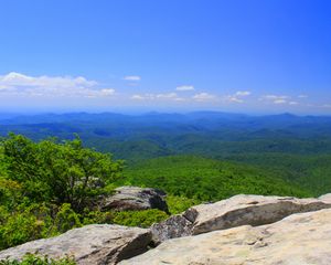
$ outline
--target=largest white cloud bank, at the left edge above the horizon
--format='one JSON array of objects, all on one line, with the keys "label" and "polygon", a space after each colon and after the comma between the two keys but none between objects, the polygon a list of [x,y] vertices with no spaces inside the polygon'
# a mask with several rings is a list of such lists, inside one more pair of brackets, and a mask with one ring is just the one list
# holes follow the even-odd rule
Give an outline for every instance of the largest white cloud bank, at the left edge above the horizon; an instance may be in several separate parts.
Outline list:
[{"label": "largest white cloud bank, at the left edge above the horizon", "polygon": [[105,97],[113,88],[99,88],[98,83],[83,76],[28,76],[20,73],[0,75],[0,91],[14,96]]}]

